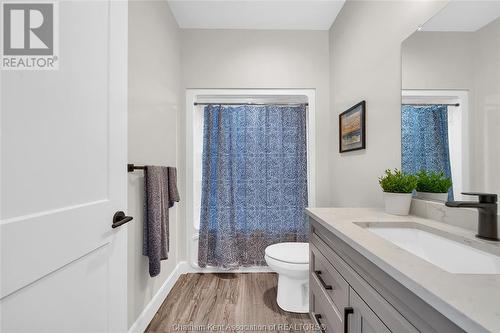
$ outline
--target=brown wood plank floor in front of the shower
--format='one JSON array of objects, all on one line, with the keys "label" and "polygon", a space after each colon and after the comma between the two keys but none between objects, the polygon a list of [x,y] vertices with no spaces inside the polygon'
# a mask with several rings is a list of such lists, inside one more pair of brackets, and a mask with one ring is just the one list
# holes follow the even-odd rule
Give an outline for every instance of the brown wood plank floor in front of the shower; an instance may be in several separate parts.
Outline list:
[{"label": "brown wood plank floor in front of the shower", "polygon": [[146,332],[314,331],[308,314],[278,307],[277,282],[274,273],[184,274]]}]

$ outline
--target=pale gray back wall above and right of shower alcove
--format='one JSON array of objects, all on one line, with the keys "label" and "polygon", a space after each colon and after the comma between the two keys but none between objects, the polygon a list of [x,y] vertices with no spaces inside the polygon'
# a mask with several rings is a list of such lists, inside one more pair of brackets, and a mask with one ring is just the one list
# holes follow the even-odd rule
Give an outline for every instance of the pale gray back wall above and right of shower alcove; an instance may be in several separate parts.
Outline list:
[{"label": "pale gray back wall above and right of shower alcove", "polygon": [[330,205],[328,31],[182,30],[181,40],[184,88],[316,89],[316,206]]}]

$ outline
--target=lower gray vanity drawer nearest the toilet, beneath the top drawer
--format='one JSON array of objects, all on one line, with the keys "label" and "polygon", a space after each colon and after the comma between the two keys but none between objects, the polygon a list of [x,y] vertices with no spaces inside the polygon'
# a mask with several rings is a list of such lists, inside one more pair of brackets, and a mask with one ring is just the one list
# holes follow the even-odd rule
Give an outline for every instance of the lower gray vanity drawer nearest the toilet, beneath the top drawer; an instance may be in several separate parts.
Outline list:
[{"label": "lower gray vanity drawer nearest the toilet, beneath the top drawer", "polygon": [[[324,289],[313,276],[309,280],[309,309],[313,320],[325,325],[326,333],[343,332],[343,323],[340,313],[337,311]],[[319,317],[319,318],[314,318]]]}]

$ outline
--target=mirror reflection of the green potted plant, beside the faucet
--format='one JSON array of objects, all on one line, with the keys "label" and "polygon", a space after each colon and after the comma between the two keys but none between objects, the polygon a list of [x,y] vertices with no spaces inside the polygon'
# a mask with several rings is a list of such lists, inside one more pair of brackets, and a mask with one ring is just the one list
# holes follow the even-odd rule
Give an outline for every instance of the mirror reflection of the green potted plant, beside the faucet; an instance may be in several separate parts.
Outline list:
[{"label": "mirror reflection of the green potted plant, beside the faucet", "polygon": [[447,201],[451,179],[443,172],[421,170],[417,173],[417,198]]}]

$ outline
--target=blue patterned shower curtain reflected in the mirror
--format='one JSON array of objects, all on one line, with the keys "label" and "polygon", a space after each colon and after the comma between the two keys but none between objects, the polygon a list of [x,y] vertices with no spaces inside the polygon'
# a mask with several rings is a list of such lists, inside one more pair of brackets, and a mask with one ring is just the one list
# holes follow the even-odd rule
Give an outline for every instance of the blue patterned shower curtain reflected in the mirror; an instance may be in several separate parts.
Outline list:
[{"label": "blue patterned shower curtain reflected in the mirror", "polygon": [[[446,105],[404,105],[401,110],[402,169],[443,172],[451,178]],[[448,194],[453,199],[453,190]]]}]

